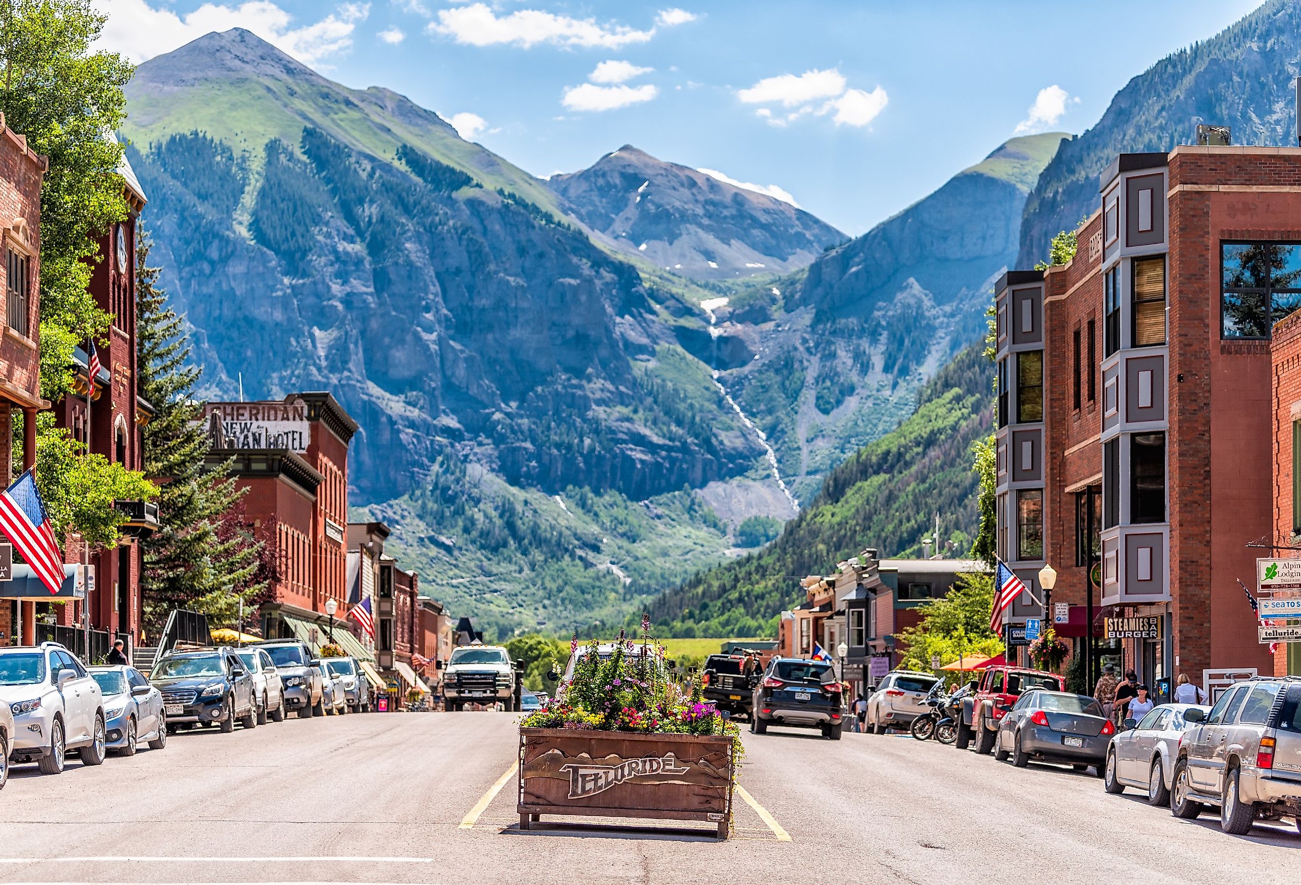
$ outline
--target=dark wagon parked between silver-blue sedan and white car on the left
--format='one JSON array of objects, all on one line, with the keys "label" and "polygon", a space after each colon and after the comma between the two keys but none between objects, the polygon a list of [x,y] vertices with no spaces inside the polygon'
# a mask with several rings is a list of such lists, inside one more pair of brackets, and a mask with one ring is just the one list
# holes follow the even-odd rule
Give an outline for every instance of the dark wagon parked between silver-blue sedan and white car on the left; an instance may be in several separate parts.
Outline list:
[{"label": "dark wagon parked between silver-blue sedan and white car on the left", "polygon": [[182,725],[234,731],[235,720],[246,729],[258,728],[252,674],[232,648],[168,652],[150,681],[163,692],[163,712],[173,731]]}]

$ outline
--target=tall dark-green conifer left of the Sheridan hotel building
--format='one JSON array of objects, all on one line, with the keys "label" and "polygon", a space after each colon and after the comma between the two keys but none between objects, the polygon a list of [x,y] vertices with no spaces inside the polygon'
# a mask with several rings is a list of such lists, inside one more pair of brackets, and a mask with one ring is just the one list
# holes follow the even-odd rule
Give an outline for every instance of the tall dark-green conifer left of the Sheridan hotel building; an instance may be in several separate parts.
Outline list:
[{"label": "tall dark-green conifer left of the Sheridan hotel building", "polygon": [[233,623],[264,582],[256,580],[262,544],[247,531],[239,501],[245,489],[226,466],[204,459],[208,437],[203,406],[194,398],[200,370],[190,363],[185,318],[168,306],[148,264],[150,238],[139,238],[137,338],[141,396],[155,414],[143,429],[144,474],[161,485],[159,531],[143,543],[144,621],[151,633],[172,609],[203,612],[213,626]]}]

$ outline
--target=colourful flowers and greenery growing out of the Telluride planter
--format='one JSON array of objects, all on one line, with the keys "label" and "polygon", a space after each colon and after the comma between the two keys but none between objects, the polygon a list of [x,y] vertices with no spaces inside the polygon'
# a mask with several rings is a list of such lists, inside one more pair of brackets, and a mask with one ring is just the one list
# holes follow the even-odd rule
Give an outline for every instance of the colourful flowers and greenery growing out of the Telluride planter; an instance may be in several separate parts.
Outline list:
[{"label": "colourful flowers and greenery growing out of the Telluride planter", "polygon": [[739,768],[740,729],[704,700],[699,681],[682,686],[669,675],[648,616],[641,617],[640,642],[619,631],[614,653],[604,660],[595,639],[580,647],[575,635],[570,648],[576,655],[572,682],[563,698],[526,716],[524,728],[729,735]]}]

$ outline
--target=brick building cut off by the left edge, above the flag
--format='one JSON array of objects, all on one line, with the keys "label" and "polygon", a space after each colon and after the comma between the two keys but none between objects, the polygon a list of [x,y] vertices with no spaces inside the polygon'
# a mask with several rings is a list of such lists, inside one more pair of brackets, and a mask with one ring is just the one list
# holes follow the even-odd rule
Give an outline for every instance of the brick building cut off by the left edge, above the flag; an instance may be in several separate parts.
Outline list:
[{"label": "brick building cut off by the left edge, above the flag", "polygon": [[[27,147],[27,139],[4,125],[0,116],[0,279],[4,310],[0,321],[0,426],[10,427],[14,413],[22,413],[22,463],[14,465],[9,445],[0,446],[0,480],[8,485],[13,475],[36,461],[36,411],[48,409],[40,398],[40,185],[48,164]],[[35,634],[36,604],[4,597],[0,584],[0,642],[20,636],[31,642]],[[13,591],[10,591],[13,592]]]}]

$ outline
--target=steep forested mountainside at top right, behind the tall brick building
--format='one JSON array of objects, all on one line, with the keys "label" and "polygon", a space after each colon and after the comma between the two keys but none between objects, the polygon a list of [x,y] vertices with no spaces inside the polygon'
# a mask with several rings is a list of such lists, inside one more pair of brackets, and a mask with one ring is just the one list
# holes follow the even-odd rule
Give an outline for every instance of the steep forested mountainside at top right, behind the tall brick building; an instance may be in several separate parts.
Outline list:
[{"label": "steep forested mountainside at top right, behind the tall brick building", "polygon": [[1294,144],[1298,59],[1301,3],[1270,0],[1131,79],[1043,169],[1025,202],[1017,267],[1045,259],[1054,234],[1097,211],[1098,176],[1116,154],[1193,144],[1197,124],[1229,126],[1235,144]]}]

